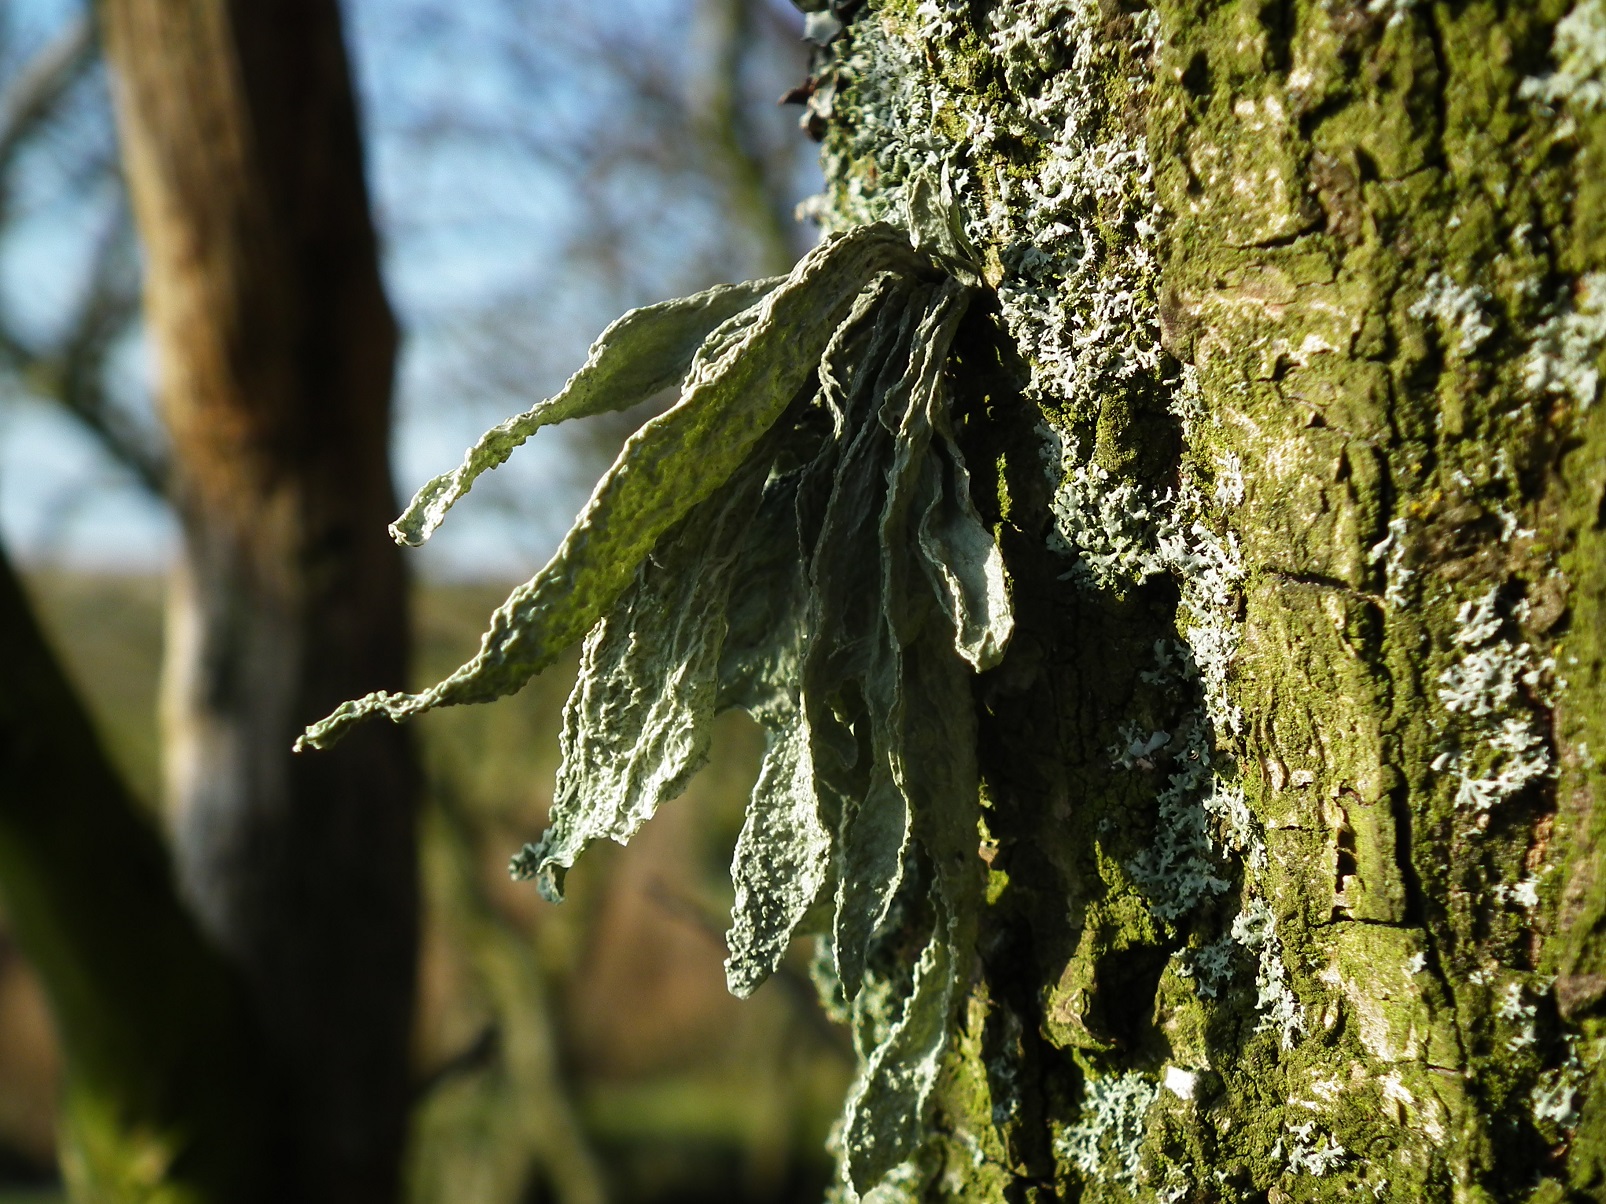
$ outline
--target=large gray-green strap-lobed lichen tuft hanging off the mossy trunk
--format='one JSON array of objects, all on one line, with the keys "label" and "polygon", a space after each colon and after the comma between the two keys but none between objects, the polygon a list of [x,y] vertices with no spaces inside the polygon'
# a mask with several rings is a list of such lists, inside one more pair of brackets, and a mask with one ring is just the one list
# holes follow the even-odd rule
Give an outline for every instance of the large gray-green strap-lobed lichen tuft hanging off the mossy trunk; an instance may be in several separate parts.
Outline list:
[{"label": "large gray-green strap-lobed lichen tuft hanging off the mossy trunk", "polygon": [[[911,207],[917,228],[941,226],[935,194]],[[586,844],[628,841],[686,788],[718,713],[753,716],[768,751],[731,868],[726,974],[747,995],[795,934],[829,933],[859,1053],[838,1135],[854,1193],[907,1177],[925,1135],[983,880],[970,677],[1013,626],[949,416],[972,289],[944,246],[941,228],[925,254],[872,223],[787,278],[610,326],[562,393],[426,485],[397,538],[427,538],[540,425],[675,382],[679,401],[625,445],[474,660],[304,737],[509,694],[585,636],[551,828],[512,862],[557,901]],[[912,954],[878,949],[893,915],[925,933]]]}]

